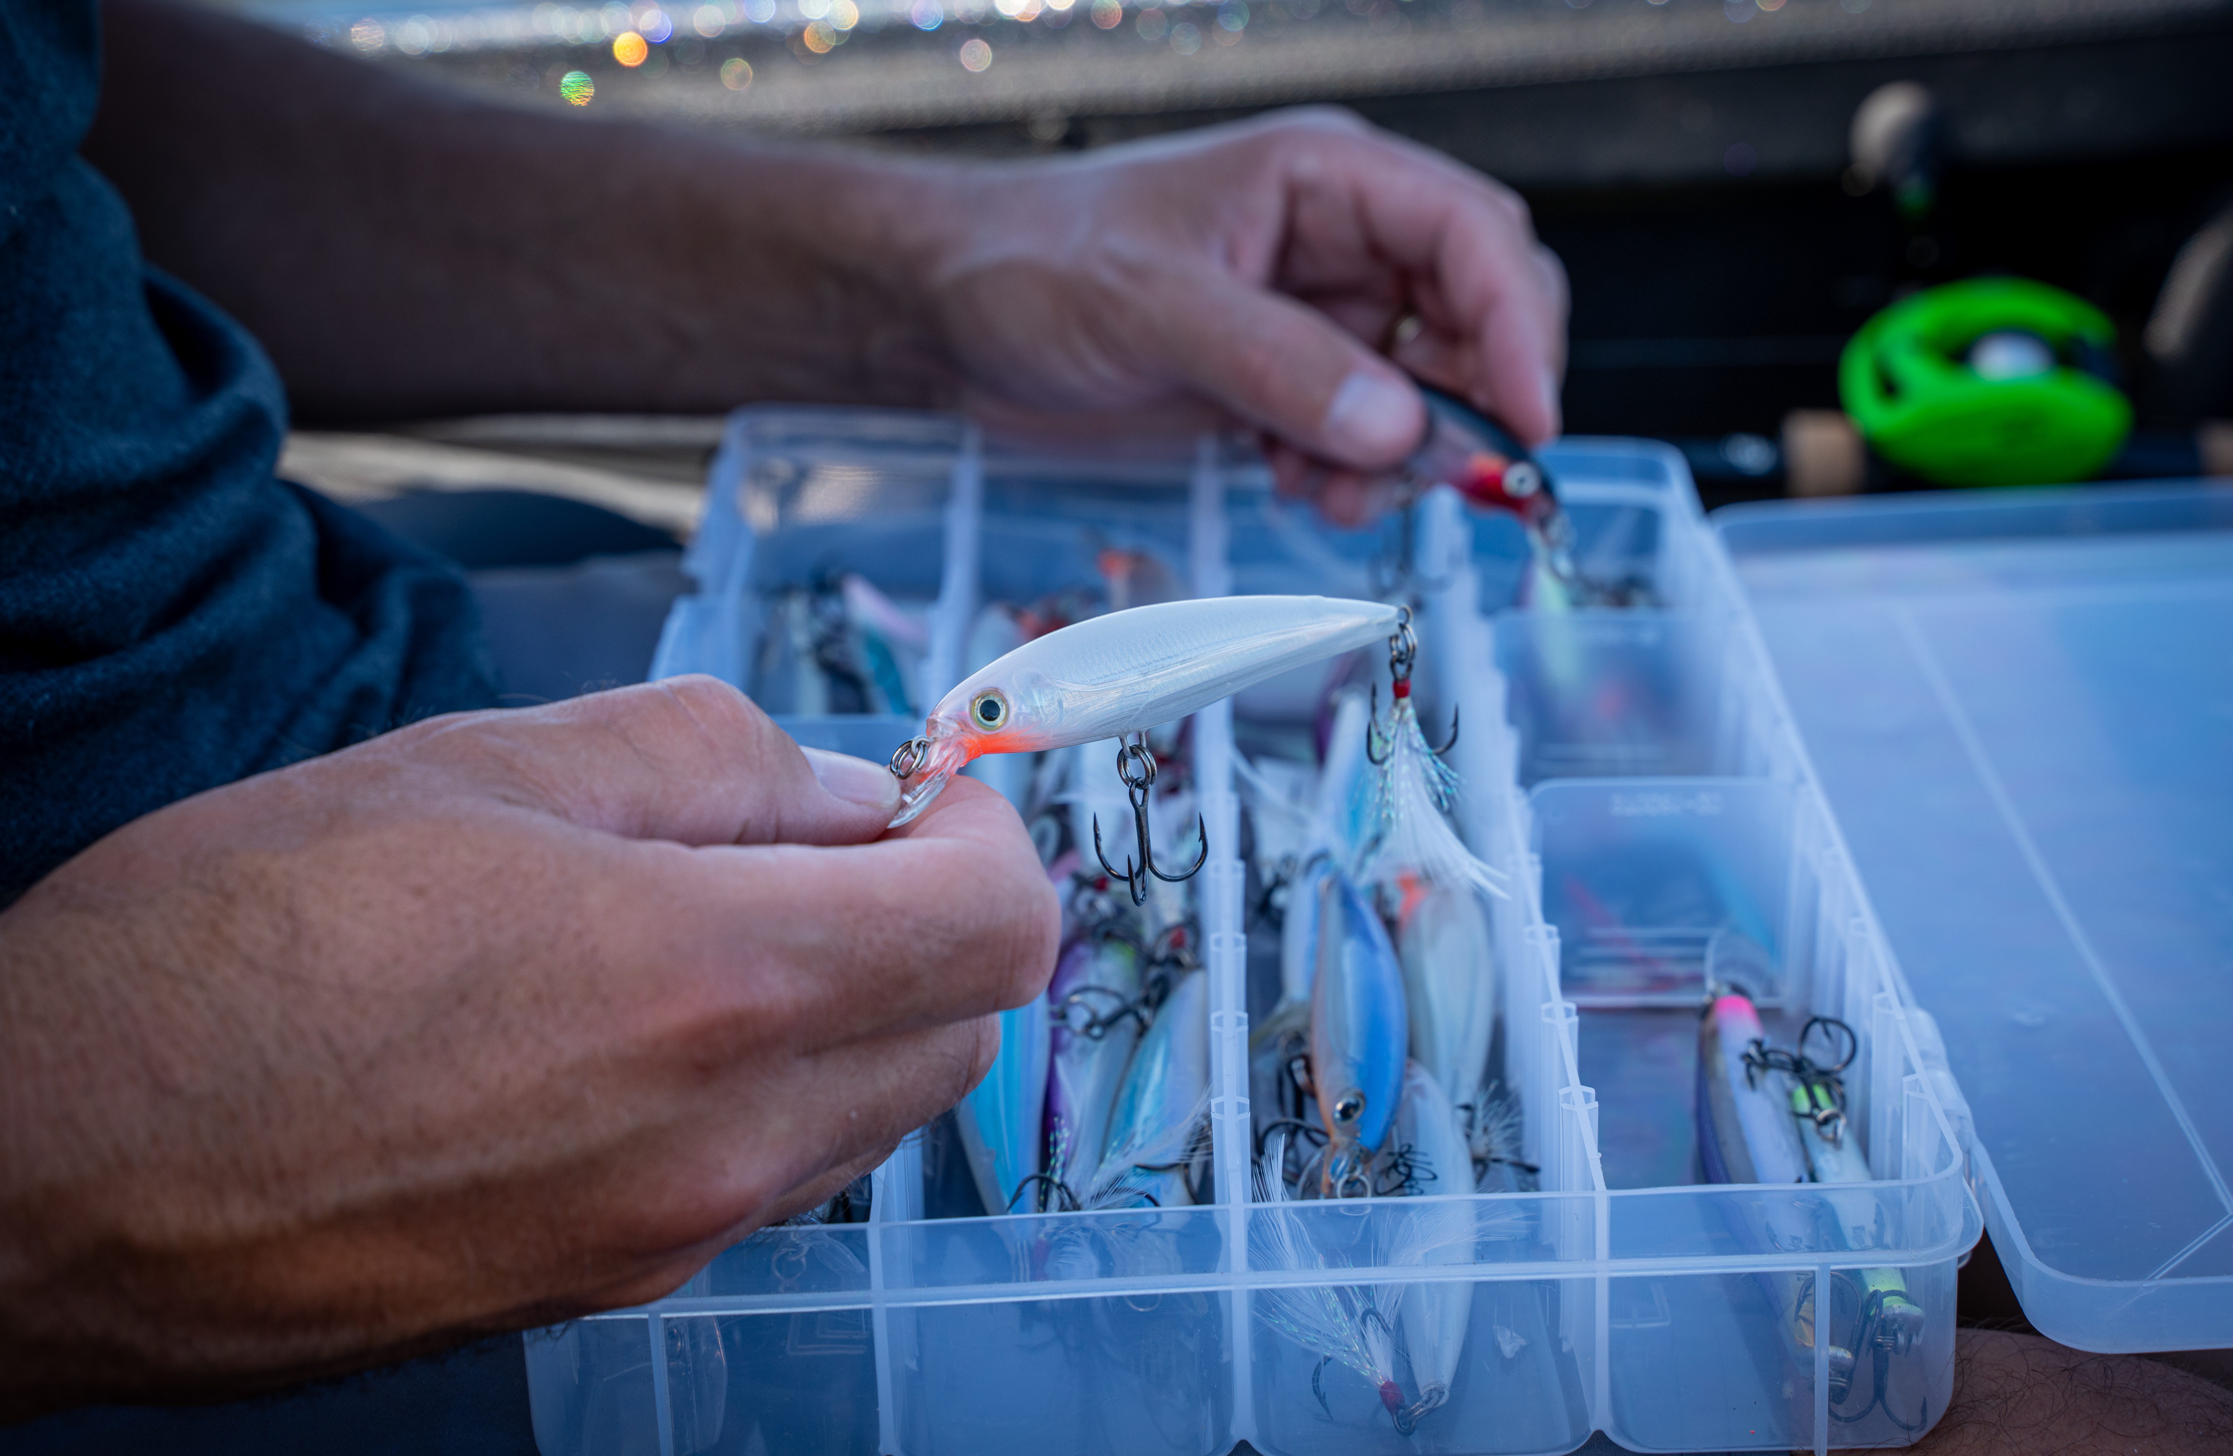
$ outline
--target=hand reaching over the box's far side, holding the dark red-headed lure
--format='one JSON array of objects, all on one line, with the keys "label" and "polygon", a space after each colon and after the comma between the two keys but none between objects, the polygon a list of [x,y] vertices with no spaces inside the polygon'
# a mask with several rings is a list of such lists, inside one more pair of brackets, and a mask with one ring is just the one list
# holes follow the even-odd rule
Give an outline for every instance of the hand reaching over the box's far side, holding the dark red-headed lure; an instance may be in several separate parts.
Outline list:
[{"label": "hand reaching over the box's far side, holding the dark red-headed lure", "polygon": [[991,413],[1208,402],[1342,520],[1425,431],[1405,371],[1559,433],[1565,272],[1527,205],[1346,112],[989,167],[947,208],[927,290]]}]

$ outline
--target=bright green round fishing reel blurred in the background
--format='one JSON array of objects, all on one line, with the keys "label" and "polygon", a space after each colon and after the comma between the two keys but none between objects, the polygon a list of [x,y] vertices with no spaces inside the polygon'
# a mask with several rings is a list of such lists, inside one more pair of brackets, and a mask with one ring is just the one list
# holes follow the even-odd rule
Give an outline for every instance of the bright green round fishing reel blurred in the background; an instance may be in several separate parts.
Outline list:
[{"label": "bright green round fishing reel blurred in the background", "polygon": [[1940,485],[2088,480],[2133,429],[2106,373],[2117,331],[2028,279],[1927,288],[1844,346],[1838,395],[1862,440]]}]

